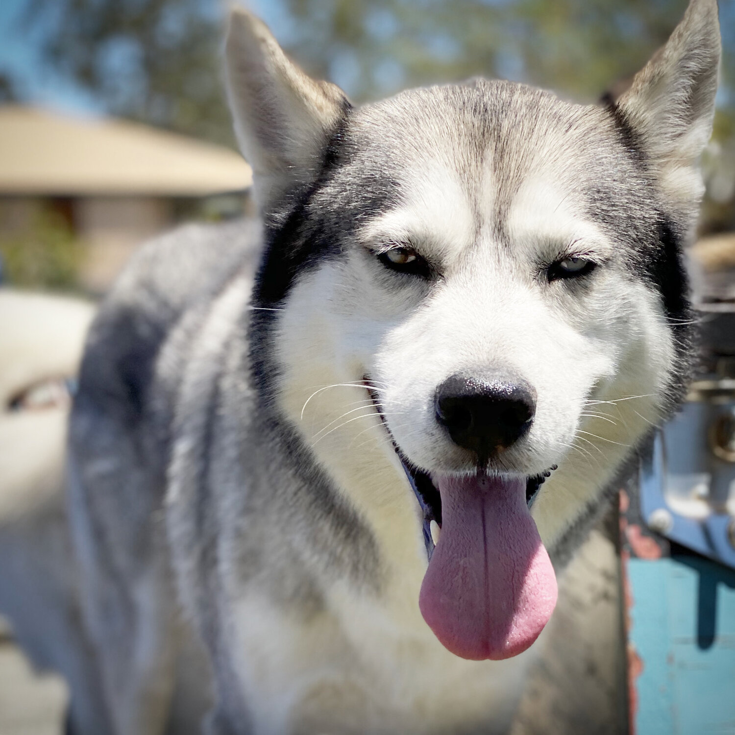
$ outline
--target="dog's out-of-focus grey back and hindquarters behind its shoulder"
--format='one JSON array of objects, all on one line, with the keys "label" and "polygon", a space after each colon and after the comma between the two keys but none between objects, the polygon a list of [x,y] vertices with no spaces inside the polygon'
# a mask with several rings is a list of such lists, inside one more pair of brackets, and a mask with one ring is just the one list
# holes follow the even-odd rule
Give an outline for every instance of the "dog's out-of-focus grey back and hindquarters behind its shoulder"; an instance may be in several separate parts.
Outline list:
[{"label": "dog's out-of-focus grey back and hindquarters behind its shoulder", "polygon": [[[71,421],[68,501],[87,583],[87,628],[108,652],[102,664],[108,666],[107,696],[122,700],[120,709],[133,709],[126,699],[139,695],[128,690],[143,680],[141,686],[151,687],[153,697],[165,703],[175,668],[178,607],[162,548],[162,504],[170,395],[177,377],[155,376],[160,345],[176,324],[181,323],[182,333],[196,329],[207,299],[233,270],[252,273],[258,229],[256,223],[188,226],[143,248],[102,306],[87,339],[80,373],[84,388]],[[141,600],[135,598],[136,585]],[[146,594],[145,585],[161,594]],[[142,609],[148,599],[159,605]],[[147,650],[131,646],[135,637],[143,637]],[[148,653],[150,660],[134,660]],[[131,679],[131,671],[141,665],[143,672]],[[165,704],[148,708],[156,711],[144,721],[127,720],[125,711],[112,709],[116,731],[159,729],[168,717]],[[198,731],[196,724],[190,726]]]}]

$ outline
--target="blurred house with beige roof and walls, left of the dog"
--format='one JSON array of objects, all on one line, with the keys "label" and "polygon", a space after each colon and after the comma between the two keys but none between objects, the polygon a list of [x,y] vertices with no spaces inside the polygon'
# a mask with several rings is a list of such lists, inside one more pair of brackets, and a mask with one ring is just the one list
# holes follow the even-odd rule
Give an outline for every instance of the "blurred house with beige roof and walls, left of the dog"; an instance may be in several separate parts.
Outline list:
[{"label": "blurred house with beige roof and walls, left of the dog", "polygon": [[142,240],[194,210],[242,211],[251,182],[229,148],[127,121],[0,106],[0,235],[50,210],[82,243],[79,281],[94,293]]}]

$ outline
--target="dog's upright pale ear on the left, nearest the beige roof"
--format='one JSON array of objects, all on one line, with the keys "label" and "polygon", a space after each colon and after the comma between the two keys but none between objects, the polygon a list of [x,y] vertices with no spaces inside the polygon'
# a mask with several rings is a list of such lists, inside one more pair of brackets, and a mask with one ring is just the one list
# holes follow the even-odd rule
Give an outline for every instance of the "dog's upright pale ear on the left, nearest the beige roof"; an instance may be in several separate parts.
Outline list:
[{"label": "dog's upright pale ear on the left, nearest the beige roof", "polygon": [[339,87],[290,62],[268,27],[241,8],[230,14],[225,59],[235,134],[253,168],[258,205],[268,212],[318,175],[349,103]]}]

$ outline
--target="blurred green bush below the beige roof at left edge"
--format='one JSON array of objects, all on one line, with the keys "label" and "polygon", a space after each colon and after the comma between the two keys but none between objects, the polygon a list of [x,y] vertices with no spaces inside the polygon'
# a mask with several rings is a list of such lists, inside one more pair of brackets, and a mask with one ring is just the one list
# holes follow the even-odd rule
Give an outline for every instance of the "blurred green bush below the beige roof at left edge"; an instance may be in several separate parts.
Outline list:
[{"label": "blurred green bush below the beige roof at left edge", "polygon": [[39,209],[29,226],[0,234],[4,282],[12,286],[76,290],[82,245],[59,212]]}]

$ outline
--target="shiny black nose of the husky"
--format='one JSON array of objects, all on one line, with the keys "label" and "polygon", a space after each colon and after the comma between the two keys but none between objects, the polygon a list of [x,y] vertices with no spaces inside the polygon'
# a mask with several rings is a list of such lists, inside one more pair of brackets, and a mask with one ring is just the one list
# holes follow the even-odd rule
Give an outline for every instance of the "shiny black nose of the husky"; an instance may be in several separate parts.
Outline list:
[{"label": "shiny black nose of the husky", "polygon": [[480,380],[454,375],[437,389],[434,410],[455,444],[487,458],[528,431],[536,391],[505,376]]}]

